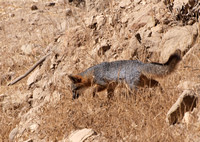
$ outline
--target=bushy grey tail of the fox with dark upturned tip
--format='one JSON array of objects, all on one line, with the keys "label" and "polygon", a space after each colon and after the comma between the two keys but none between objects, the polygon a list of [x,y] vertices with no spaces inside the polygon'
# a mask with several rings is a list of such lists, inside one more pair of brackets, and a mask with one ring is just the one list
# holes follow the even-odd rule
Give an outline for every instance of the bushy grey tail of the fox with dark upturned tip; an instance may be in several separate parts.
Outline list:
[{"label": "bushy grey tail of the fox with dark upturned tip", "polygon": [[178,49],[169,57],[166,63],[148,63],[142,67],[141,71],[146,76],[164,77],[172,73],[180,61],[181,51]]}]

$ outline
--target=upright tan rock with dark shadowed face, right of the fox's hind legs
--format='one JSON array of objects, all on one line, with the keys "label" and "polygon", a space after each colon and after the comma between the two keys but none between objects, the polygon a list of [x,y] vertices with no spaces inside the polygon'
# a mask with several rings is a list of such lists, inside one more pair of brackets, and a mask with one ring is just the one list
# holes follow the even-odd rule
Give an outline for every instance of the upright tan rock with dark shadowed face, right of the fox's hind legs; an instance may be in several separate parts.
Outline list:
[{"label": "upright tan rock with dark shadowed face, right of the fox's hind legs", "polygon": [[168,111],[166,122],[169,125],[181,122],[185,113],[192,111],[197,106],[197,102],[197,95],[193,91],[185,90]]}]

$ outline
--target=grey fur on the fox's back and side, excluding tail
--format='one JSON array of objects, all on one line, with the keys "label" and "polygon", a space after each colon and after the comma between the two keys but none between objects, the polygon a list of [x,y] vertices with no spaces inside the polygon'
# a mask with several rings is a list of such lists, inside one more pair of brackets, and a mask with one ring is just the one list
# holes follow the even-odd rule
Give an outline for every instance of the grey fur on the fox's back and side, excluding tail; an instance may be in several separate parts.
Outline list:
[{"label": "grey fur on the fox's back and side, excluding tail", "polygon": [[114,62],[103,62],[96,66],[92,66],[80,73],[86,75],[93,71],[94,83],[98,85],[106,85],[110,81],[125,81],[131,89],[137,85],[139,76],[141,75],[140,66],[144,63],[137,60],[120,60]]}]

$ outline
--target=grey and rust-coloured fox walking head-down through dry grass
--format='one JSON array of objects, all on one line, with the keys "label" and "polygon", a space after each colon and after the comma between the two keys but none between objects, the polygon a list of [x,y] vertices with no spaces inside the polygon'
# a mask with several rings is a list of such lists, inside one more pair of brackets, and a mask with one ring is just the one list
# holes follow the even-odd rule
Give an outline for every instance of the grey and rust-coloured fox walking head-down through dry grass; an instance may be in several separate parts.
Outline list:
[{"label": "grey and rust-coloured fox walking head-down through dry grass", "polygon": [[96,92],[107,89],[108,98],[111,98],[115,87],[119,83],[127,84],[130,90],[137,87],[154,87],[158,84],[153,78],[165,77],[172,73],[181,60],[181,51],[176,50],[164,64],[161,63],[143,63],[138,60],[120,60],[113,62],[103,62],[92,66],[85,71],[68,75],[71,80],[71,89],[73,99],[88,87],[95,85],[93,96]]}]

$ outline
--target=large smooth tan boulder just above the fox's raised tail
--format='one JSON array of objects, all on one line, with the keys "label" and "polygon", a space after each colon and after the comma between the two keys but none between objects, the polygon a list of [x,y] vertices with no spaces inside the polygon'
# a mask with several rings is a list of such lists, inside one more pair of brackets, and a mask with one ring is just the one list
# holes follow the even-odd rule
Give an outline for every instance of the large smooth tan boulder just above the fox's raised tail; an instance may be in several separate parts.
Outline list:
[{"label": "large smooth tan boulder just above the fox's raised tail", "polygon": [[180,49],[182,52],[188,51],[196,41],[197,26],[196,24],[184,27],[176,26],[168,30],[160,43],[161,62],[166,61],[176,49]]}]

